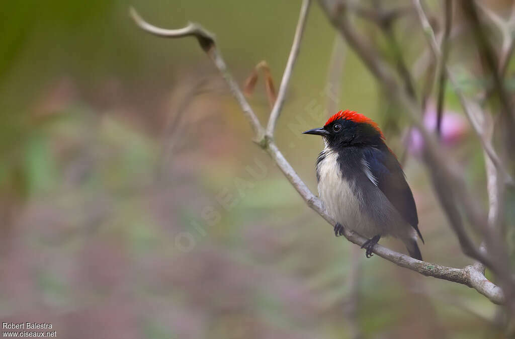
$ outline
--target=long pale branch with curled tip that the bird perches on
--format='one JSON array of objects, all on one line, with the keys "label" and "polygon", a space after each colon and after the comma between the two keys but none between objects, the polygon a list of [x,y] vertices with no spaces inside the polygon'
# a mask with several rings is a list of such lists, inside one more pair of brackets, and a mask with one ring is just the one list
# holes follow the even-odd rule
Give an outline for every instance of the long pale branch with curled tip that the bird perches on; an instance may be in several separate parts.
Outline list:
[{"label": "long pale branch with curled tip that the bird perches on", "polygon": [[[210,35],[209,32],[202,30],[202,33],[199,32],[188,32],[184,33],[187,30],[180,29],[180,30],[163,30],[160,28],[157,28],[155,26],[152,26],[150,24],[147,24],[144,22],[137,13],[131,9],[131,14],[133,19],[135,20],[136,24],[140,26],[145,31],[148,31],[150,33],[155,33],[156,31],[159,32],[165,32],[164,34],[160,34],[160,36],[165,36],[169,38],[178,38],[178,37],[184,37],[188,35],[194,35],[197,37],[197,34],[204,36],[204,35]],[[134,15],[136,14],[136,15]],[[177,35],[175,32],[181,31],[180,35]],[[172,32],[170,34],[170,32]],[[322,218],[325,219],[329,224],[331,224],[333,227],[335,225],[335,221],[333,218],[327,214],[325,211],[325,208],[322,205],[322,202],[320,199],[318,199],[306,186],[306,184],[302,181],[302,179],[298,176],[298,174],[295,172],[294,168],[291,167],[291,165],[288,163],[288,161],[284,158],[283,154],[277,147],[277,145],[273,142],[271,138],[269,138],[267,135],[264,135],[263,127],[259,123],[257,117],[255,116],[254,112],[250,108],[249,104],[247,103],[245,97],[243,96],[242,91],[239,89],[238,85],[234,82],[233,78],[230,76],[230,73],[227,70],[226,64],[224,60],[222,59],[220,53],[216,49],[216,45],[214,40],[212,40],[213,43],[210,46],[208,50],[205,50],[207,52],[208,56],[213,60],[216,67],[220,71],[221,75],[225,78],[225,80],[229,84],[229,88],[231,89],[233,95],[235,96],[236,100],[238,101],[239,105],[242,108],[242,111],[244,112],[245,116],[247,117],[247,120],[251,124],[252,128],[254,129],[256,133],[256,139],[258,141],[258,144],[261,148],[263,148],[270,157],[276,162],[276,164],[279,166],[283,174],[286,176],[288,181],[293,185],[293,187],[297,190],[297,192],[300,194],[300,196],[304,199],[306,204],[312,208],[314,211],[316,211]],[[363,236],[348,230],[344,229],[344,236],[347,238],[350,242],[357,244],[359,246],[363,245],[367,239]],[[489,300],[491,300],[494,303],[504,303],[505,298],[503,296],[503,292],[501,289],[497,286],[495,286],[493,283],[488,281],[482,274],[480,274],[477,270],[474,269],[472,266],[467,266],[463,269],[460,268],[453,268],[453,267],[445,267],[440,266],[436,264],[427,263],[424,261],[419,261],[416,259],[413,259],[409,256],[406,256],[402,253],[393,251],[391,249],[388,249],[386,247],[383,247],[379,244],[375,245],[373,248],[373,252],[381,257],[384,258],[400,267],[408,268],[410,270],[413,270],[415,272],[418,272],[424,276],[430,276],[435,277],[438,279],[443,280],[449,280],[453,281],[459,284],[463,284],[469,287],[472,287],[476,291],[478,291],[480,294],[483,294],[486,296]]]}]

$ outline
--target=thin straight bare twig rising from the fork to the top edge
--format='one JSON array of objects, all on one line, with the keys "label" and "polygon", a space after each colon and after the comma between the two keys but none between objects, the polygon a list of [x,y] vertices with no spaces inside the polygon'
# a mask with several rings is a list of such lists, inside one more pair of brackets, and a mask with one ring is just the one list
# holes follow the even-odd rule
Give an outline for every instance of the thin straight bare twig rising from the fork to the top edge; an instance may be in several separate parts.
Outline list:
[{"label": "thin straight bare twig rising from the fork to the top edge", "polygon": [[284,69],[281,85],[279,86],[277,100],[276,103],[273,105],[272,112],[270,113],[270,118],[268,120],[268,125],[266,126],[266,134],[270,138],[273,137],[273,131],[274,129],[276,129],[276,123],[279,118],[279,115],[281,114],[284,99],[286,98],[286,91],[288,90],[288,84],[291,78],[291,71],[293,70],[293,66],[295,64],[295,61],[297,60],[297,55],[299,54],[300,41],[302,40],[302,34],[304,33],[304,27],[306,25],[307,13],[310,9],[310,4],[311,0],[302,1],[299,22],[297,23],[297,29],[295,30],[293,44],[291,45],[291,50],[288,57],[288,61],[286,62],[286,67]]}]

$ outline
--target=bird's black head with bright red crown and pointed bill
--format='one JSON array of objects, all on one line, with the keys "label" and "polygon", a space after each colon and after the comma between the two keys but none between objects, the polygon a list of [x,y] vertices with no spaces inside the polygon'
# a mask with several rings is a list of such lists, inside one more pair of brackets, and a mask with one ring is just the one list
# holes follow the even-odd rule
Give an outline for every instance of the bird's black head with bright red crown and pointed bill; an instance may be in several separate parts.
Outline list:
[{"label": "bird's black head with bright red crown and pointed bill", "polygon": [[339,111],[329,118],[322,128],[314,128],[304,134],[321,135],[331,148],[347,146],[379,146],[384,143],[379,126],[363,114]]}]

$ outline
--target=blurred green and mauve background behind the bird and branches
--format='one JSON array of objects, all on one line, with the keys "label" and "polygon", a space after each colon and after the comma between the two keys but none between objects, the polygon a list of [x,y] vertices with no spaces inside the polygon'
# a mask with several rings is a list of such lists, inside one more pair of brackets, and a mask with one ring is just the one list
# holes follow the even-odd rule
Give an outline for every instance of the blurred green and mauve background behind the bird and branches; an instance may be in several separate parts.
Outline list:
[{"label": "blurred green and mauve background behind the bird and branches", "polygon": [[[347,338],[356,327],[369,338],[500,337],[496,307],[475,291],[366,260],[335,238],[252,143],[195,39],[145,34],[129,5],[158,26],[200,22],[239,83],[266,60],[278,85],[300,1],[3,3],[1,321],[52,323],[61,338]],[[411,64],[425,41],[406,25]],[[327,117],[334,38],[314,2],[278,123],[279,147],[314,191],[322,145],[300,132]],[[350,52],[343,72],[341,109],[407,126]],[[265,122],[262,84],[249,100]],[[403,154],[400,129],[385,133]],[[449,147],[482,192],[472,133]],[[424,259],[469,264],[423,165],[408,154],[404,168]]]}]

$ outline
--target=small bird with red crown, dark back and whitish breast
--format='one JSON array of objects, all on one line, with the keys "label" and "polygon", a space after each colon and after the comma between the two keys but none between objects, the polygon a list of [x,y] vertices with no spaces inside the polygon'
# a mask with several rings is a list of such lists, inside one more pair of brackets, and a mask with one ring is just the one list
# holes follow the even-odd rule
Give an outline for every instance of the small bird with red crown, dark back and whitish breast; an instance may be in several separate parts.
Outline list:
[{"label": "small bird with red crown, dark back and whitish breast", "polygon": [[318,155],[318,194],[337,222],[336,236],[346,227],[369,238],[367,258],[381,236],[400,239],[415,259],[422,260],[417,234],[417,207],[397,157],[386,146],[383,132],[370,118],[355,111],[339,111],[322,128],[304,134],[321,135]]}]

